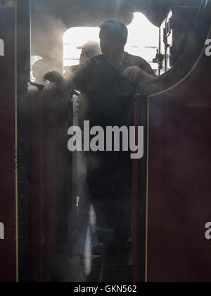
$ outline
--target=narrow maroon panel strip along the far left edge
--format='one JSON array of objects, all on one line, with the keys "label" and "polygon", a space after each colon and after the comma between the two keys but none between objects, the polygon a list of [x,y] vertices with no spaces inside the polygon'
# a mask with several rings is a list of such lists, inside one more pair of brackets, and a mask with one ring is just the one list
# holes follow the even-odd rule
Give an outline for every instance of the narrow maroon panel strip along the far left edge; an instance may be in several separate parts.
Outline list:
[{"label": "narrow maroon panel strip along the far left edge", "polygon": [[5,282],[16,280],[15,8],[0,7],[0,39],[0,282]]}]

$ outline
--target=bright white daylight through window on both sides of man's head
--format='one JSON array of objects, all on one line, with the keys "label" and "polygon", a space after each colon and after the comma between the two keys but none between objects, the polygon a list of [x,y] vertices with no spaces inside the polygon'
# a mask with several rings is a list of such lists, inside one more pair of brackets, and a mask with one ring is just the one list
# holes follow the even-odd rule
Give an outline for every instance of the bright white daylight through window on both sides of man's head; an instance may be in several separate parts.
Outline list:
[{"label": "bright white daylight through window on both sides of man's head", "polygon": [[[64,43],[64,66],[65,68],[79,63],[81,47],[88,41],[99,42],[98,27],[74,27],[65,32]],[[159,29],[155,27],[142,13],[134,13],[134,20],[128,26],[129,36],[125,50],[129,54],[141,56],[151,63],[156,55],[159,41]]]}]

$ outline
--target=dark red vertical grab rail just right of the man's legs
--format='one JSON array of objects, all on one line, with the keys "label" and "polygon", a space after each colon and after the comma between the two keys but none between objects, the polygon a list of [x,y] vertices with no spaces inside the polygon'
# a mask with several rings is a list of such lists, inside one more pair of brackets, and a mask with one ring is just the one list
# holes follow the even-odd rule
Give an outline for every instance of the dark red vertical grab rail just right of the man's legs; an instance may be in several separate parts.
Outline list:
[{"label": "dark red vertical grab rail just right of the man's legs", "polygon": [[[138,127],[144,126],[146,130],[146,105],[147,98],[141,94],[134,95],[134,125],[136,127],[136,144],[138,142]],[[147,136],[145,133],[144,141]],[[146,262],[145,242],[146,238],[146,174],[147,174],[147,158],[146,158],[146,143],[144,144],[145,156],[143,159],[134,159],[133,175],[132,175],[132,271],[134,282],[144,280]],[[140,187],[141,183],[141,187]],[[142,213],[138,217],[138,213]],[[143,215],[143,216],[142,216]],[[138,219],[139,218],[139,219]],[[140,249],[141,248],[141,249]]]}]

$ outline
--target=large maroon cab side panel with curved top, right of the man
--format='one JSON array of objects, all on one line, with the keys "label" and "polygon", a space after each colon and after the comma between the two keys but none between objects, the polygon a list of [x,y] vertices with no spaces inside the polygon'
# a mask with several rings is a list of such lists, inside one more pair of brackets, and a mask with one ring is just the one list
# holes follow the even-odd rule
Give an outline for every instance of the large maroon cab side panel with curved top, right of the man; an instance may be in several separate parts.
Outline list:
[{"label": "large maroon cab side panel with curved top, right of the man", "polygon": [[148,281],[210,281],[211,57],[150,98]]}]

